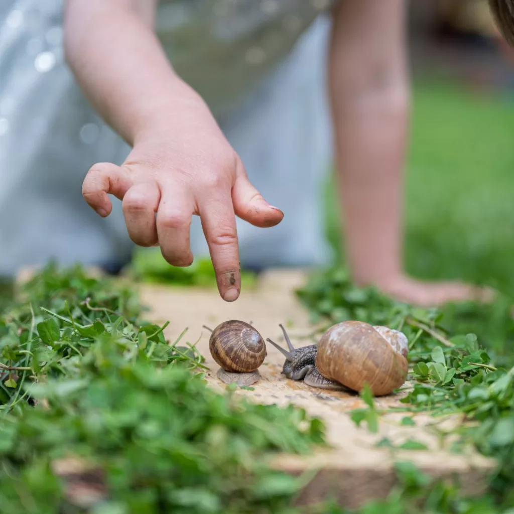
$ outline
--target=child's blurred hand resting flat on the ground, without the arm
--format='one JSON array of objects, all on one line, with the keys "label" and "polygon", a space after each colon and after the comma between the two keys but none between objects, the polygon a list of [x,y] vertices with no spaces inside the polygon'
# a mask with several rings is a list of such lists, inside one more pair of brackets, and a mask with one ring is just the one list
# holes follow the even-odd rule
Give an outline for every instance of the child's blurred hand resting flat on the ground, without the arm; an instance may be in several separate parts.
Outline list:
[{"label": "child's blurred hand resting flat on the ground, without the arm", "polygon": [[421,282],[400,275],[381,281],[377,288],[400,302],[419,307],[436,307],[445,303],[466,301],[491,302],[495,291],[462,282]]}]

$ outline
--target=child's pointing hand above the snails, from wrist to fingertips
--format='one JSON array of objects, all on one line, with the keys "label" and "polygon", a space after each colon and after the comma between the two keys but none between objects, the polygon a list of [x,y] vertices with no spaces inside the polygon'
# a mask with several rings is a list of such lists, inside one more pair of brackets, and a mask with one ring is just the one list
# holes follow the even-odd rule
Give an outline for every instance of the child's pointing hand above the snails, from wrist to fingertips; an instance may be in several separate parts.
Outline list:
[{"label": "child's pointing hand above the snails, from wrist to fingertips", "polygon": [[234,301],[241,289],[234,213],[258,227],[277,225],[283,213],[251,185],[203,101],[163,110],[166,120],[152,120],[135,137],[121,167],[98,163],[89,170],[82,193],[101,216],[112,210],[108,193],[123,200],[134,243],[159,245],[174,266],[193,262],[189,231],[192,214],[199,215],[219,293]]}]

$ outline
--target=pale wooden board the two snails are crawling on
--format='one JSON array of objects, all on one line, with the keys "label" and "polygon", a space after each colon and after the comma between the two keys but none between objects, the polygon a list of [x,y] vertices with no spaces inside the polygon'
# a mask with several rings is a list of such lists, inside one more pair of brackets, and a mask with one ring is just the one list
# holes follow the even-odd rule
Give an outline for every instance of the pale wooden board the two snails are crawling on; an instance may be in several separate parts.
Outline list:
[{"label": "pale wooden board the two snails are crawling on", "polygon": [[[308,323],[307,312],[293,294],[304,281],[305,273],[301,270],[272,270],[262,276],[256,290],[243,290],[241,297],[233,303],[224,302],[215,289],[144,285],[140,287],[140,296],[150,307],[146,318],[158,323],[170,321],[165,331],[170,341],[188,327],[182,341],[198,341],[197,348],[210,367],[207,373],[209,386],[223,390],[226,386],[216,378],[218,366],[208,349],[209,332],[202,325],[214,328],[231,319],[252,322],[264,339],[269,337],[285,347],[279,328],[279,323],[283,323],[290,326],[288,333],[295,346],[311,344],[305,336],[313,327]],[[494,462],[471,448],[461,454],[451,453],[448,449],[451,440],[441,446],[435,433],[435,424],[438,428],[450,427],[460,422],[458,417],[441,420],[416,415],[416,426],[403,427],[399,424],[403,415],[391,414],[384,417],[379,433],[371,434],[364,427],[356,427],[348,415],[352,409],[365,407],[357,395],[322,391],[288,380],[281,374],[283,361],[280,352],[269,346],[268,356],[260,368],[261,380],[253,384],[253,391],[237,390],[236,394],[262,404],[285,406],[293,403],[324,420],[332,449],[316,452],[308,458],[282,455],[274,463],[277,468],[291,473],[318,470],[300,495],[300,503],[308,504],[327,495],[336,495],[342,505],[353,508],[366,500],[384,498],[395,483],[395,458],[411,460],[433,476],[457,480],[466,494],[483,491],[486,475]],[[377,406],[400,406],[401,396],[378,398]],[[425,443],[430,451],[397,450],[393,456],[387,448],[375,446],[383,437],[395,444],[414,438]]]}]

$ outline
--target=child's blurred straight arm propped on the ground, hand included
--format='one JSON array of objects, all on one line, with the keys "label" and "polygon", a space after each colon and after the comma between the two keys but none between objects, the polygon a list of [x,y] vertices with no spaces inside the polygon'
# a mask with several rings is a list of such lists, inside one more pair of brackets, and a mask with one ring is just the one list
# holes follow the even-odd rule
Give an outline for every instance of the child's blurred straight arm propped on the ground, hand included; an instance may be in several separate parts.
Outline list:
[{"label": "child's blurred straight arm propped on the ground, hand included", "polygon": [[342,1],[334,11],[330,97],[348,262],[354,280],[417,305],[488,299],[461,283],[402,272],[402,170],[410,88],[405,0]]}]

